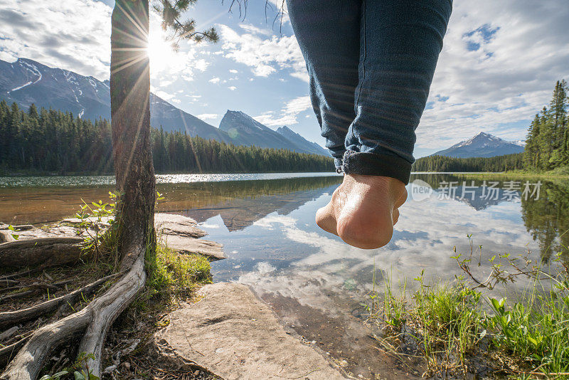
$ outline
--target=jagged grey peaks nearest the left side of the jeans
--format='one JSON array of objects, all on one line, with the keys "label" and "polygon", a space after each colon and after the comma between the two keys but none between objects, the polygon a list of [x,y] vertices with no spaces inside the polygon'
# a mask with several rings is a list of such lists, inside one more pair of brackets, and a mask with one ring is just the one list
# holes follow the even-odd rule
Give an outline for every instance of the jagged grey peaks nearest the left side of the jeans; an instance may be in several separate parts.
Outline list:
[{"label": "jagged grey peaks nearest the left side of the jeans", "polygon": [[285,148],[298,153],[328,155],[328,152],[322,152],[324,149],[317,149],[312,146],[314,143],[308,142],[300,135],[290,131],[295,136],[294,139],[289,139],[241,111],[228,110],[225,112],[219,123],[219,129],[227,132],[239,144],[255,145],[255,147],[262,148]]}]

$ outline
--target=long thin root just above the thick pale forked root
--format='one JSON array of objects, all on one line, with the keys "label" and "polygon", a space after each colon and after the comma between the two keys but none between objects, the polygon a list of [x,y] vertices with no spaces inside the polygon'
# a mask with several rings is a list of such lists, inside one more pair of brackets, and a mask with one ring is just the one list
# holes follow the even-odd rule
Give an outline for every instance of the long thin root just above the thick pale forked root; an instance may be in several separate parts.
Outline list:
[{"label": "long thin root just above the thick pale forked root", "polygon": [[16,310],[13,312],[0,312],[0,329],[6,329],[7,327],[14,326],[23,322],[28,322],[34,318],[40,317],[48,312],[53,312],[53,310],[60,307],[60,305],[66,305],[68,302],[73,303],[80,295],[89,295],[90,293],[97,290],[100,285],[106,283],[108,280],[117,277],[119,273],[114,275],[108,275],[105,278],[90,283],[78,290],[70,292],[68,295],[63,295],[61,297],[53,298],[41,304],[28,307],[26,309]]}]

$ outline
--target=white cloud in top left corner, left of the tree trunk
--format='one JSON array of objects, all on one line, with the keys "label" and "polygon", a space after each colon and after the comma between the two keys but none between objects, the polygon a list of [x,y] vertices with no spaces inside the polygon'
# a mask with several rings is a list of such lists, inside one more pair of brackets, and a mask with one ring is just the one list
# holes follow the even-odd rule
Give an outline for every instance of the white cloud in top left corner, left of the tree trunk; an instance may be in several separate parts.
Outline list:
[{"label": "white cloud in top left corner, left of the tree trunk", "polygon": [[2,0],[0,59],[31,58],[107,79],[111,11],[94,0]]}]

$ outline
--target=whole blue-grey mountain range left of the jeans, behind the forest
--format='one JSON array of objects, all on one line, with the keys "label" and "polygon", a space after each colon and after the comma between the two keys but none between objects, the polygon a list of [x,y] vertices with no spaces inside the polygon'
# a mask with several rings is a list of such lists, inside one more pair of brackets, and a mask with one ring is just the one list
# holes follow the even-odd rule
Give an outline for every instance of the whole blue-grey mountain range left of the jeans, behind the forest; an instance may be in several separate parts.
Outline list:
[{"label": "whole blue-grey mountain range left of the jeans, behind the forest", "polygon": [[[95,120],[110,120],[110,83],[73,71],[50,68],[35,60],[18,58],[9,63],[0,60],[0,100],[16,102],[27,108],[53,108]],[[309,142],[288,127],[274,131],[240,111],[230,111],[219,128],[171,105],[150,93],[150,124],[165,131],[181,131],[204,139],[216,139],[235,145],[284,148],[299,153],[329,155],[328,151]]]}]

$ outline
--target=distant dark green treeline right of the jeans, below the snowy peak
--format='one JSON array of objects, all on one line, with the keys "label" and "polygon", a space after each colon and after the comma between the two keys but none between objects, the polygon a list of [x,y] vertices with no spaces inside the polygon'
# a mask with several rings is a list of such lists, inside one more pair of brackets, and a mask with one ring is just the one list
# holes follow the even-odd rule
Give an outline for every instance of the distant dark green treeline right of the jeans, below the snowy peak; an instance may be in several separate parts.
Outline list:
[{"label": "distant dark green treeline right of the jeans, below the snowy peak", "polygon": [[428,156],[417,159],[413,171],[506,171],[523,168],[523,153],[496,157],[454,158]]}]

